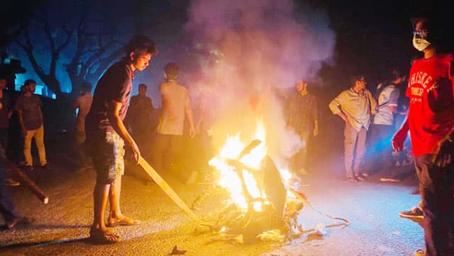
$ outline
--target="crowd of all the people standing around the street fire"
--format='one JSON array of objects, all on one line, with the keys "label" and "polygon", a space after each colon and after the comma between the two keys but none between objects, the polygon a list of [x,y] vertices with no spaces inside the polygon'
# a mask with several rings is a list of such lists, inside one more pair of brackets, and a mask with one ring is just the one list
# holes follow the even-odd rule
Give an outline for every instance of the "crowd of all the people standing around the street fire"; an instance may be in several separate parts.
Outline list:
[{"label": "crowd of all the people standing around the street fire", "polygon": [[[350,182],[360,182],[375,172],[382,172],[382,181],[395,181],[389,170],[396,163],[408,162],[402,150],[410,133],[409,148],[421,191],[417,209],[424,220],[426,239],[426,250],[417,252],[419,255],[454,255],[454,66],[452,55],[438,48],[440,33],[433,20],[415,19],[413,44],[423,52],[423,57],[412,63],[408,83],[404,72],[393,69],[389,79],[372,93],[366,88],[365,75],[355,75],[350,79],[350,87],[328,106],[345,122],[344,167]],[[178,161],[182,158],[184,121],[189,124],[190,137],[196,130],[188,91],[177,82],[178,65],[165,65],[165,81],[160,84],[162,112],[153,135],[150,127],[153,127],[155,109],[146,96],[147,85],[139,84],[138,95],[131,97],[135,72],[146,69],[156,54],[153,40],[143,35],[133,37],[126,45],[125,57],[107,69],[94,94],[92,84],[85,83],[82,94],[74,101],[73,108],[78,111],[74,148],[80,152],[80,167],[92,165],[96,171],[94,215],[89,231],[94,243],[116,243],[121,236],[109,227],[140,223],[125,216],[120,206],[125,146],[131,150],[135,162],[140,161],[143,152],[150,152],[150,160],[158,172],[174,169],[183,175],[186,168],[183,161]],[[23,167],[33,169],[34,138],[40,167],[47,169],[42,102],[34,94],[36,82],[25,82],[23,93],[14,105],[3,92],[2,79],[0,86],[1,151],[8,150],[9,119],[15,112],[23,135]],[[307,142],[319,133],[320,106],[306,82],[298,81],[296,89],[287,101],[285,114],[287,126],[302,141],[291,169],[304,175],[308,172]],[[404,95],[401,91],[405,91]],[[13,228],[21,217],[6,191],[6,169],[0,168],[0,210],[7,227]],[[11,177],[9,182],[14,184]],[[110,209],[105,220],[107,201]]]}]

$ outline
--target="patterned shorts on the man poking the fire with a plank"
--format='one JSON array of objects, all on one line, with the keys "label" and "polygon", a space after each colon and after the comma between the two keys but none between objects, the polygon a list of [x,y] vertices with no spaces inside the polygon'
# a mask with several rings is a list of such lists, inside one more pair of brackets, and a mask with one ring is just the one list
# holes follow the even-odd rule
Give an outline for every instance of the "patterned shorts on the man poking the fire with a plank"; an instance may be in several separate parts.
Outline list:
[{"label": "patterned shorts on the man poking the fire with a plank", "polygon": [[118,175],[124,174],[125,155],[123,139],[115,132],[103,135],[87,135],[87,146],[96,170],[97,184],[112,184]]}]

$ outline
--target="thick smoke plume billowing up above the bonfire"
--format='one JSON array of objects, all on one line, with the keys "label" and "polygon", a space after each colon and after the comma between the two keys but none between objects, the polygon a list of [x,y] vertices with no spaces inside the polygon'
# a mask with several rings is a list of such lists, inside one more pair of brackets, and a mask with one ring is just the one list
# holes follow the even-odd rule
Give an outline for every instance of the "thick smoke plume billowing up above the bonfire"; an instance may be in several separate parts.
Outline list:
[{"label": "thick smoke plume billowing up above the bonfire", "polygon": [[282,167],[281,160],[301,148],[285,128],[282,94],[296,91],[300,79],[316,78],[322,62],[331,61],[335,35],[326,14],[295,13],[290,0],[194,0],[185,30],[218,53],[191,88],[207,97],[214,147],[238,131],[249,139],[255,118],[263,116],[268,150]]}]

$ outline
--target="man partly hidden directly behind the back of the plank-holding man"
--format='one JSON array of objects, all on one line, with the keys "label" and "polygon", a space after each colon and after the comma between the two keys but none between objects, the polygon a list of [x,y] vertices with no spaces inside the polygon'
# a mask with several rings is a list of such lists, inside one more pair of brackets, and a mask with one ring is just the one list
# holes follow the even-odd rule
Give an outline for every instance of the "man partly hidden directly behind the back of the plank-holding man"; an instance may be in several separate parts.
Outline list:
[{"label": "man partly hidden directly behind the back of the plank-holding man", "polygon": [[76,118],[76,140],[74,143],[74,150],[79,155],[79,168],[83,169],[88,166],[87,152],[85,152],[84,143],[87,138],[85,134],[85,118],[87,117],[90,107],[92,106],[92,84],[84,82],[82,84],[82,91],[73,104],[74,111],[77,111]]}]

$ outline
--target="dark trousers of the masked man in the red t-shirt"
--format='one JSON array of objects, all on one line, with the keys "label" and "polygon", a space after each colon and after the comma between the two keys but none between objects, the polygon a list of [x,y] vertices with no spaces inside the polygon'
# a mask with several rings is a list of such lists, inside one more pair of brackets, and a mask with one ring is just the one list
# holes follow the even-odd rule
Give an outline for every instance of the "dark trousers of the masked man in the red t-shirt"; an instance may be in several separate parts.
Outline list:
[{"label": "dark trousers of the masked man in the red t-shirt", "polygon": [[424,213],[426,255],[454,255],[454,165],[437,167],[433,155],[416,157]]}]

